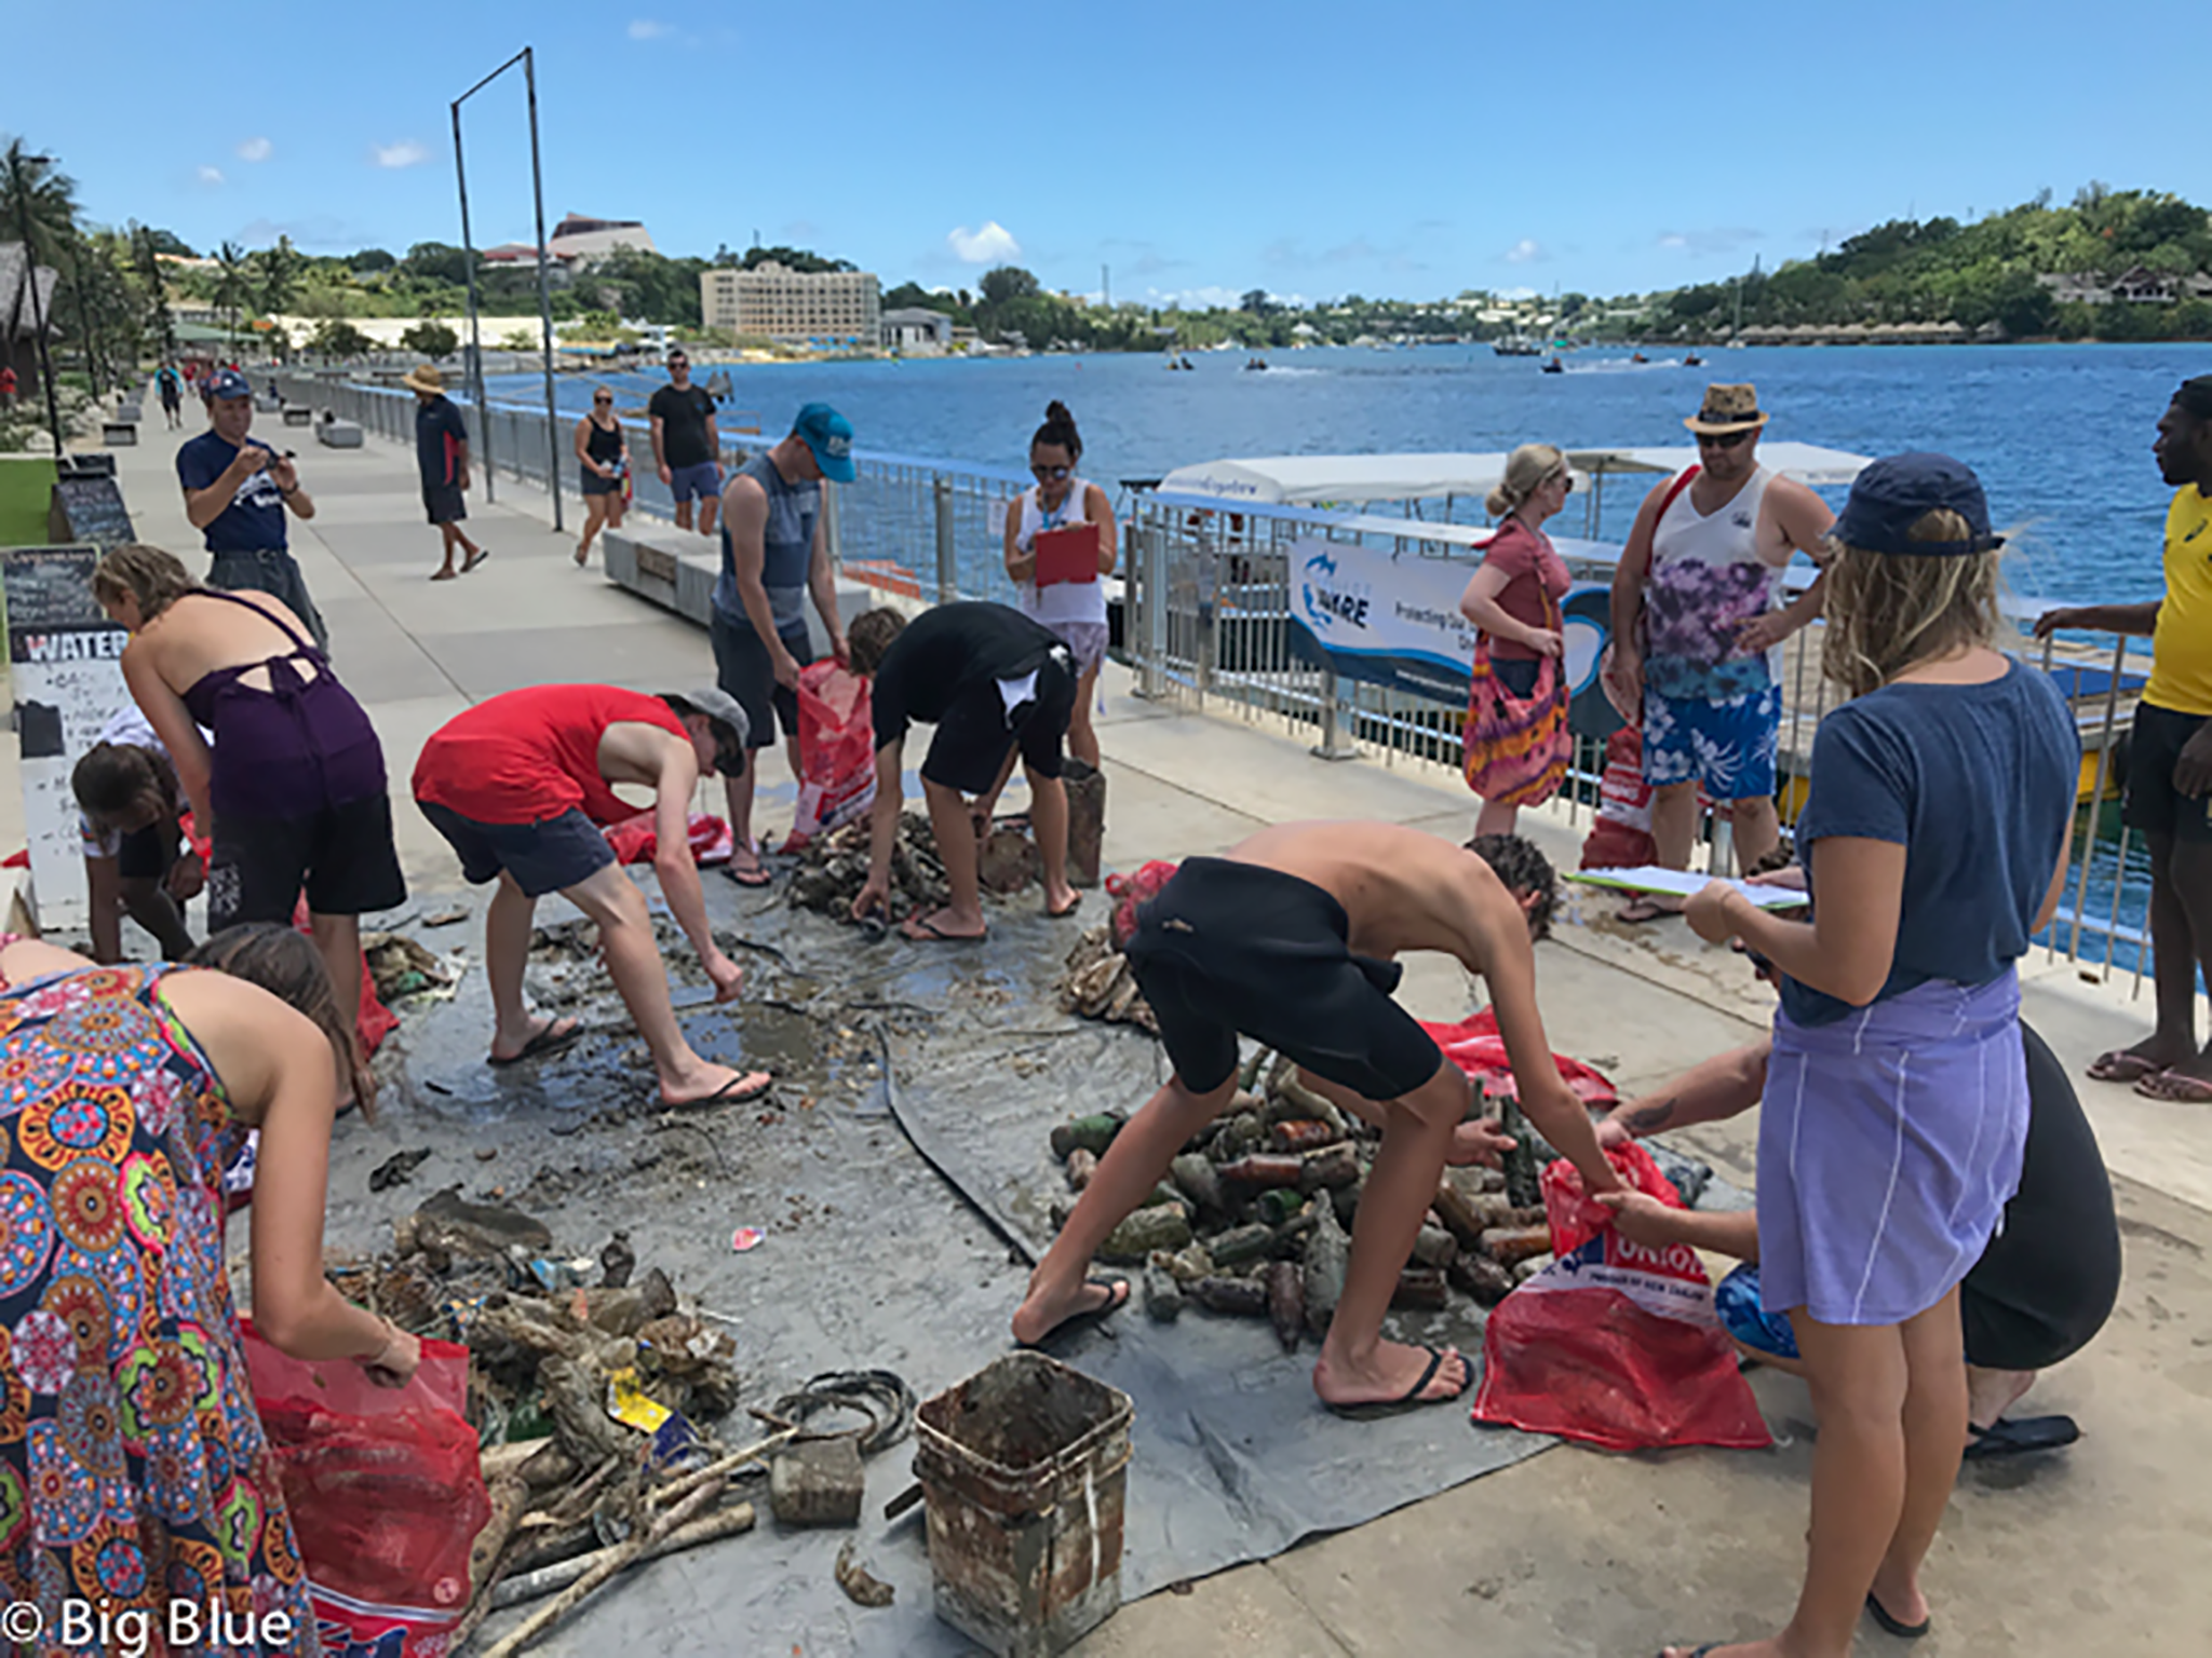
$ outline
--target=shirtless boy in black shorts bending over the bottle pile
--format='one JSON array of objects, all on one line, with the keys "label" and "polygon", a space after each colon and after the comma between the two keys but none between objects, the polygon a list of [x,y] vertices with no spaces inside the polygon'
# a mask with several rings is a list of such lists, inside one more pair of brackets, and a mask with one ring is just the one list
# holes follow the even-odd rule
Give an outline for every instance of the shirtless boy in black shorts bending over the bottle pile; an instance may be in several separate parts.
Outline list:
[{"label": "shirtless boy in black shorts bending over the bottle pile", "polygon": [[1128,959],[1175,1077],[1115,1136],[1013,1315],[1020,1342],[1113,1311],[1128,1284],[1086,1280],[1091,1256],[1237,1092],[1237,1037],[1294,1059],[1301,1079],[1383,1127],[1352,1227],[1352,1269],[1321,1344],[1314,1393],[1332,1410],[1458,1397],[1455,1349],[1383,1340],[1398,1273],[1447,1163],[1495,1163],[1495,1121],[1464,1121],[1471,1088],[1391,999],[1402,951],[1442,951],[1480,973],[1528,1121],[1590,1192],[1613,1192],[1597,1132],[1559,1079],[1535,1008],[1535,951],[1557,902],[1526,840],[1471,847],[1380,822],[1261,829],[1228,858],[1190,858],[1137,911]]}]

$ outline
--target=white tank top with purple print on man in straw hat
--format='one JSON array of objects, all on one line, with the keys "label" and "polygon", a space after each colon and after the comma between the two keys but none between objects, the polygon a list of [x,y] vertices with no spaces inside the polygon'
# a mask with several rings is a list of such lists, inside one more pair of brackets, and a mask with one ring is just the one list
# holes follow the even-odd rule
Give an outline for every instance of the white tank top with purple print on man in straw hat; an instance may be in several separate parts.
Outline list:
[{"label": "white tank top with purple print on man in straw hat", "polygon": [[1772,478],[1756,469],[1714,513],[1697,511],[1692,484],[1659,515],[1644,584],[1644,679],[1661,696],[1723,701],[1774,683],[1767,657],[1734,643],[1741,623],[1774,608],[1781,570],[1759,557]]}]

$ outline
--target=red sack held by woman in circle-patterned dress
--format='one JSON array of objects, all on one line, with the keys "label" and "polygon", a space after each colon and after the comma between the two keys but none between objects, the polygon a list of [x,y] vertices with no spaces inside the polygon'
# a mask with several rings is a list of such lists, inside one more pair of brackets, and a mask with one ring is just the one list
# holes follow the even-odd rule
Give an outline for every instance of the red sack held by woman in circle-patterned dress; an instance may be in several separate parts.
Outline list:
[{"label": "red sack held by woman in circle-patterned dress", "polygon": [[414,1379],[378,1388],[352,1360],[294,1360],[243,1333],[323,1649],[442,1658],[491,1519],[460,1415],[469,1349],[422,1342]]}]

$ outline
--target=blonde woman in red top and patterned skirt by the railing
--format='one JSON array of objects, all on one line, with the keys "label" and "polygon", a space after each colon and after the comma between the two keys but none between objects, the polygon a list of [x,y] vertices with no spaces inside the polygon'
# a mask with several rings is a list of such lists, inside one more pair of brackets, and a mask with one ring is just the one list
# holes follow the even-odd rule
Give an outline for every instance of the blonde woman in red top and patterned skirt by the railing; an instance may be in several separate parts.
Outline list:
[{"label": "blonde woman in red top and patterned skirt by the railing", "polygon": [[1489,495],[1502,520],[1482,568],[1460,595],[1480,637],[1467,705],[1467,787],[1482,796],[1475,836],[1511,836],[1522,807],[1540,807],[1566,778],[1566,559],[1544,520],[1566,506],[1575,480],[1553,444],[1522,444]]}]

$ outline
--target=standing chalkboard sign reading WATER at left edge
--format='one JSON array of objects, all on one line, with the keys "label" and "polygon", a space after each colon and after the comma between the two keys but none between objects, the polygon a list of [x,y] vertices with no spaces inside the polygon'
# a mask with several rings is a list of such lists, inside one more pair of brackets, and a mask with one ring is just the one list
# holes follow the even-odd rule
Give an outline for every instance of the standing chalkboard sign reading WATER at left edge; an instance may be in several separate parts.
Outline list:
[{"label": "standing chalkboard sign reading WATER at left edge", "polygon": [[122,654],[131,634],[93,599],[95,546],[18,546],[0,553],[7,654],[22,749],[22,822],[42,931],[86,924],[84,844],[69,774],[131,690]]}]

